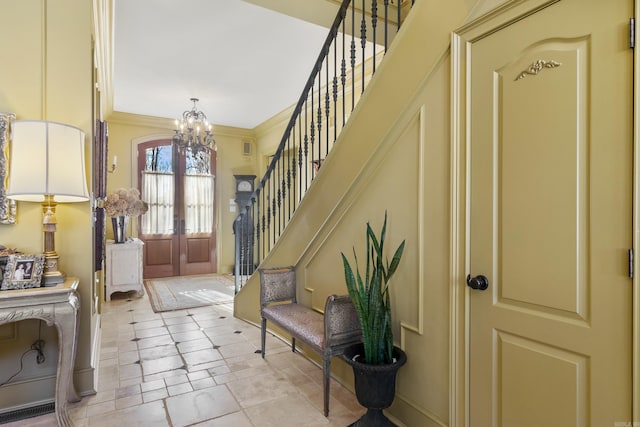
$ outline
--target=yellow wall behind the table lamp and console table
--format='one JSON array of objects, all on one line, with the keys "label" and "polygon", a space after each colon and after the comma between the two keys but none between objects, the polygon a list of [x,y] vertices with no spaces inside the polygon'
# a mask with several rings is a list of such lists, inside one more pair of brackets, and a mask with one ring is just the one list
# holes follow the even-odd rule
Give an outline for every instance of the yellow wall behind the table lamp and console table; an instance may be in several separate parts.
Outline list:
[{"label": "yellow wall behind the table lamp and console table", "polygon": [[[0,111],[16,119],[67,123],[86,133],[87,171],[93,138],[91,3],[77,0],[1,0]],[[10,41],[10,42],[9,42]],[[87,179],[89,180],[89,176]],[[90,182],[90,181],[88,181]],[[90,185],[89,185],[90,187]],[[93,310],[92,215],[89,202],[57,208],[56,249],[60,270],[80,279],[80,332],[75,382],[81,393],[94,391],[93,345],[98,316]],[[41,207],[18,202],[17,224],[0,225],[0,244],[25,253],[43,250]],[[0,327],[0,382],[20,368],[20,355],[38,339],[39,322]],[[0,388],[0,410],[52,401],[57,334],[43,324],[46,362],[25,357],[24,371]],[[31,380],[31,381],[26,381]]]}]

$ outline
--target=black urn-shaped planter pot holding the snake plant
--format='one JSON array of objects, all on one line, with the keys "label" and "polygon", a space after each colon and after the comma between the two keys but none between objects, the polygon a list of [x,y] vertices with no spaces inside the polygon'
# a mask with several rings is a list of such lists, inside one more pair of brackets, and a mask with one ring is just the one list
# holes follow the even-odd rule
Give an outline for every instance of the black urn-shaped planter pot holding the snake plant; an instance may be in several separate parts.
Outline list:
[{"label": "black urn-shaped planter pot holding the snake plant", "polygon": [[[383,427],[395,426],[382,412],[393,403],[396,395],[396,374],[407,362],[407,355],[398,347],[393,347],[394,363],[368,365],[364,360],[364,346],[356,344],[345,349],[343,359],[353,368],[353,377],[358,402],[367,408],[367,413],[351,426]],[[354,360],[355,359],[355,360]]]}]

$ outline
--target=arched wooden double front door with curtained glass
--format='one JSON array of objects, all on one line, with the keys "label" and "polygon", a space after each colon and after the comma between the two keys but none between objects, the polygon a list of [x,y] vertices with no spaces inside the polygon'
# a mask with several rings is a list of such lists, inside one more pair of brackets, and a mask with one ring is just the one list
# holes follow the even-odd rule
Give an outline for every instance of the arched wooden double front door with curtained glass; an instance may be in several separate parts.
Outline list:
[{"label": "arched wooden double front door with curtained glass", "polygon": [[179,152],[170,140],[138,146],[142,199],[139,221],[144,277],[216,271],[215,151]]}]

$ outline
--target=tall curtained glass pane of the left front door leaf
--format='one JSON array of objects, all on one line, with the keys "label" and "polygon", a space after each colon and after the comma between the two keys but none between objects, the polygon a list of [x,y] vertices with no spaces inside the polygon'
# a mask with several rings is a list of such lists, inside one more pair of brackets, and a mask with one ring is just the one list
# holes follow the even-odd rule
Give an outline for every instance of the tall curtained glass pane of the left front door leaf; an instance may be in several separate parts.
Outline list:
[{"label": "tall curtained glass pane of the left front door leaf", "polygon": [[163,145],[145,150],[145,169],[142,171],[142,200],[149,211],[141,217],[143,234],[173,234],[175,173],[173,150]]}]

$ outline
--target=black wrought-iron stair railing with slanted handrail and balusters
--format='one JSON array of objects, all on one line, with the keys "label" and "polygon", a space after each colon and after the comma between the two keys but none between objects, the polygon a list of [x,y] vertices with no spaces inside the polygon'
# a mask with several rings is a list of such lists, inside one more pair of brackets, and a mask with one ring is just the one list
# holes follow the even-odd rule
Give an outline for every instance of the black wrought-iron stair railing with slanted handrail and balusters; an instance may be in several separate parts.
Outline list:
[{"label": "black wrought-iron stair railing with slanted handrail and balusters", "polygon": [[236,293],[276,244],[340,143],[341,130],[412,5],[343,0],[267,171],[234,222]]}]

